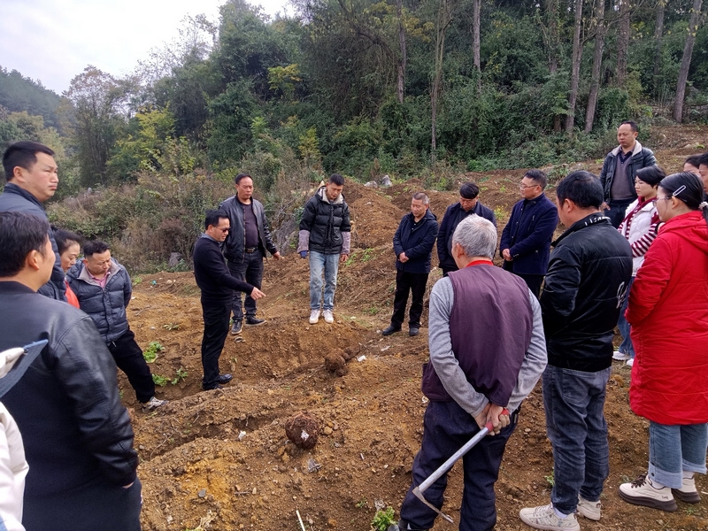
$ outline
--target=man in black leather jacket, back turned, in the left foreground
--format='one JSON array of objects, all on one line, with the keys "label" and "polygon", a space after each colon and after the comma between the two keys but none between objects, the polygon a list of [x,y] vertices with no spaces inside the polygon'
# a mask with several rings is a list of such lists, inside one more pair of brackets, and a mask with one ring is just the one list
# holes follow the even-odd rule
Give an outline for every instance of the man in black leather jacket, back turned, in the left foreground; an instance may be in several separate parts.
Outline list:
[{"label": "man in black leather jacket, back turned, in the left foreground", "polygon": [[54,251],[45,219],[0,212],[0,350],[46,339],[3,396],[25,444],[27,531],[139,531],[141,485],[116,364],[93,321],[36,293]]}]

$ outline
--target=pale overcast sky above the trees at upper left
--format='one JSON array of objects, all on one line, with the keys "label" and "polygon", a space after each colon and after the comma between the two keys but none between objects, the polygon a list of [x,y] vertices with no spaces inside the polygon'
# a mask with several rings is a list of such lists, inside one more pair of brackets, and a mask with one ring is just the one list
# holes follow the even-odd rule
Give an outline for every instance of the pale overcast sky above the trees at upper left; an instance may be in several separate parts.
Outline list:
[{"label": "pale overcast sky above the trees at upper left", "polygon": [[[288,0],[247,0],[270,15]],[[0,66],[61,94],[87,65],[130,73],[150,49],[177,36],[181,20],[219,20],[226,0],[0,0]]]}]

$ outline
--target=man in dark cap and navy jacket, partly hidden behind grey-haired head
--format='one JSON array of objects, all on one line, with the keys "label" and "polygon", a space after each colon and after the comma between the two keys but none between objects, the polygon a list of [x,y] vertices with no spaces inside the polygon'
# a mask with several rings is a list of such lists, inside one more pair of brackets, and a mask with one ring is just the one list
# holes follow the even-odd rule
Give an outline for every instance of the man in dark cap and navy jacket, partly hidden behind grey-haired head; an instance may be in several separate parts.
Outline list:
[{"label": "man in dark cap and navy jacket, partly hidden behind grey-haired head", "polygon": [[447,276],[450,271],[458,270],[455,258],[452,256],[452,235],[455,234],[455,229],[460,221],[467,216],[477,214],[491,221],[496,227],[494,212],[481,204],[479,196],[480,188],[473,182],[465,182],[459,187],[459,202],[450,204],[445,211],[437,235],[437,258],[440,268],[443,270],[443,276]]}]

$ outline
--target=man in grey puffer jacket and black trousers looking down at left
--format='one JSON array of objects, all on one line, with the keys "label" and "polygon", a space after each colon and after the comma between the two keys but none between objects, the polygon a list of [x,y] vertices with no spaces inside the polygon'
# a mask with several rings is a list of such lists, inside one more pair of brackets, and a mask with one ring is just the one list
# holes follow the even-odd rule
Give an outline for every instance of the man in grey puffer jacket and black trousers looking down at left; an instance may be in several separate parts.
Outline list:
[{"label": "man in grey puffer jacket and black trousers looking down at left", "polygon": [[116,365],[126,373],[135,389],[142,411],[150,412],[167,404],[166,400],[155,397],[150,367],[127,323],[126,309],[133,295],[133,285],[126,268],[111,257],[108,245],[98,240],[83,244],[83,256],[66,275],[81,310],[94,320]]}]

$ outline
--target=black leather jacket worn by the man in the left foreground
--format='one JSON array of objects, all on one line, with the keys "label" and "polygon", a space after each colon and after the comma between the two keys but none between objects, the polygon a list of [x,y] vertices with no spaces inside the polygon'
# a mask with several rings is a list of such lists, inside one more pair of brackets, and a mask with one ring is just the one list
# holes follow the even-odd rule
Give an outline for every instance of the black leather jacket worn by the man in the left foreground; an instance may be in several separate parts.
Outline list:
[{"label": "black leather jacket worn by the man in the left foreground", "polygon": [[133,428],[116,364],[91,318],[19,282],[0,282],[0,350],[39,339],[49,344],[3,396],[25,444],[25,497],[135,481]]}]

